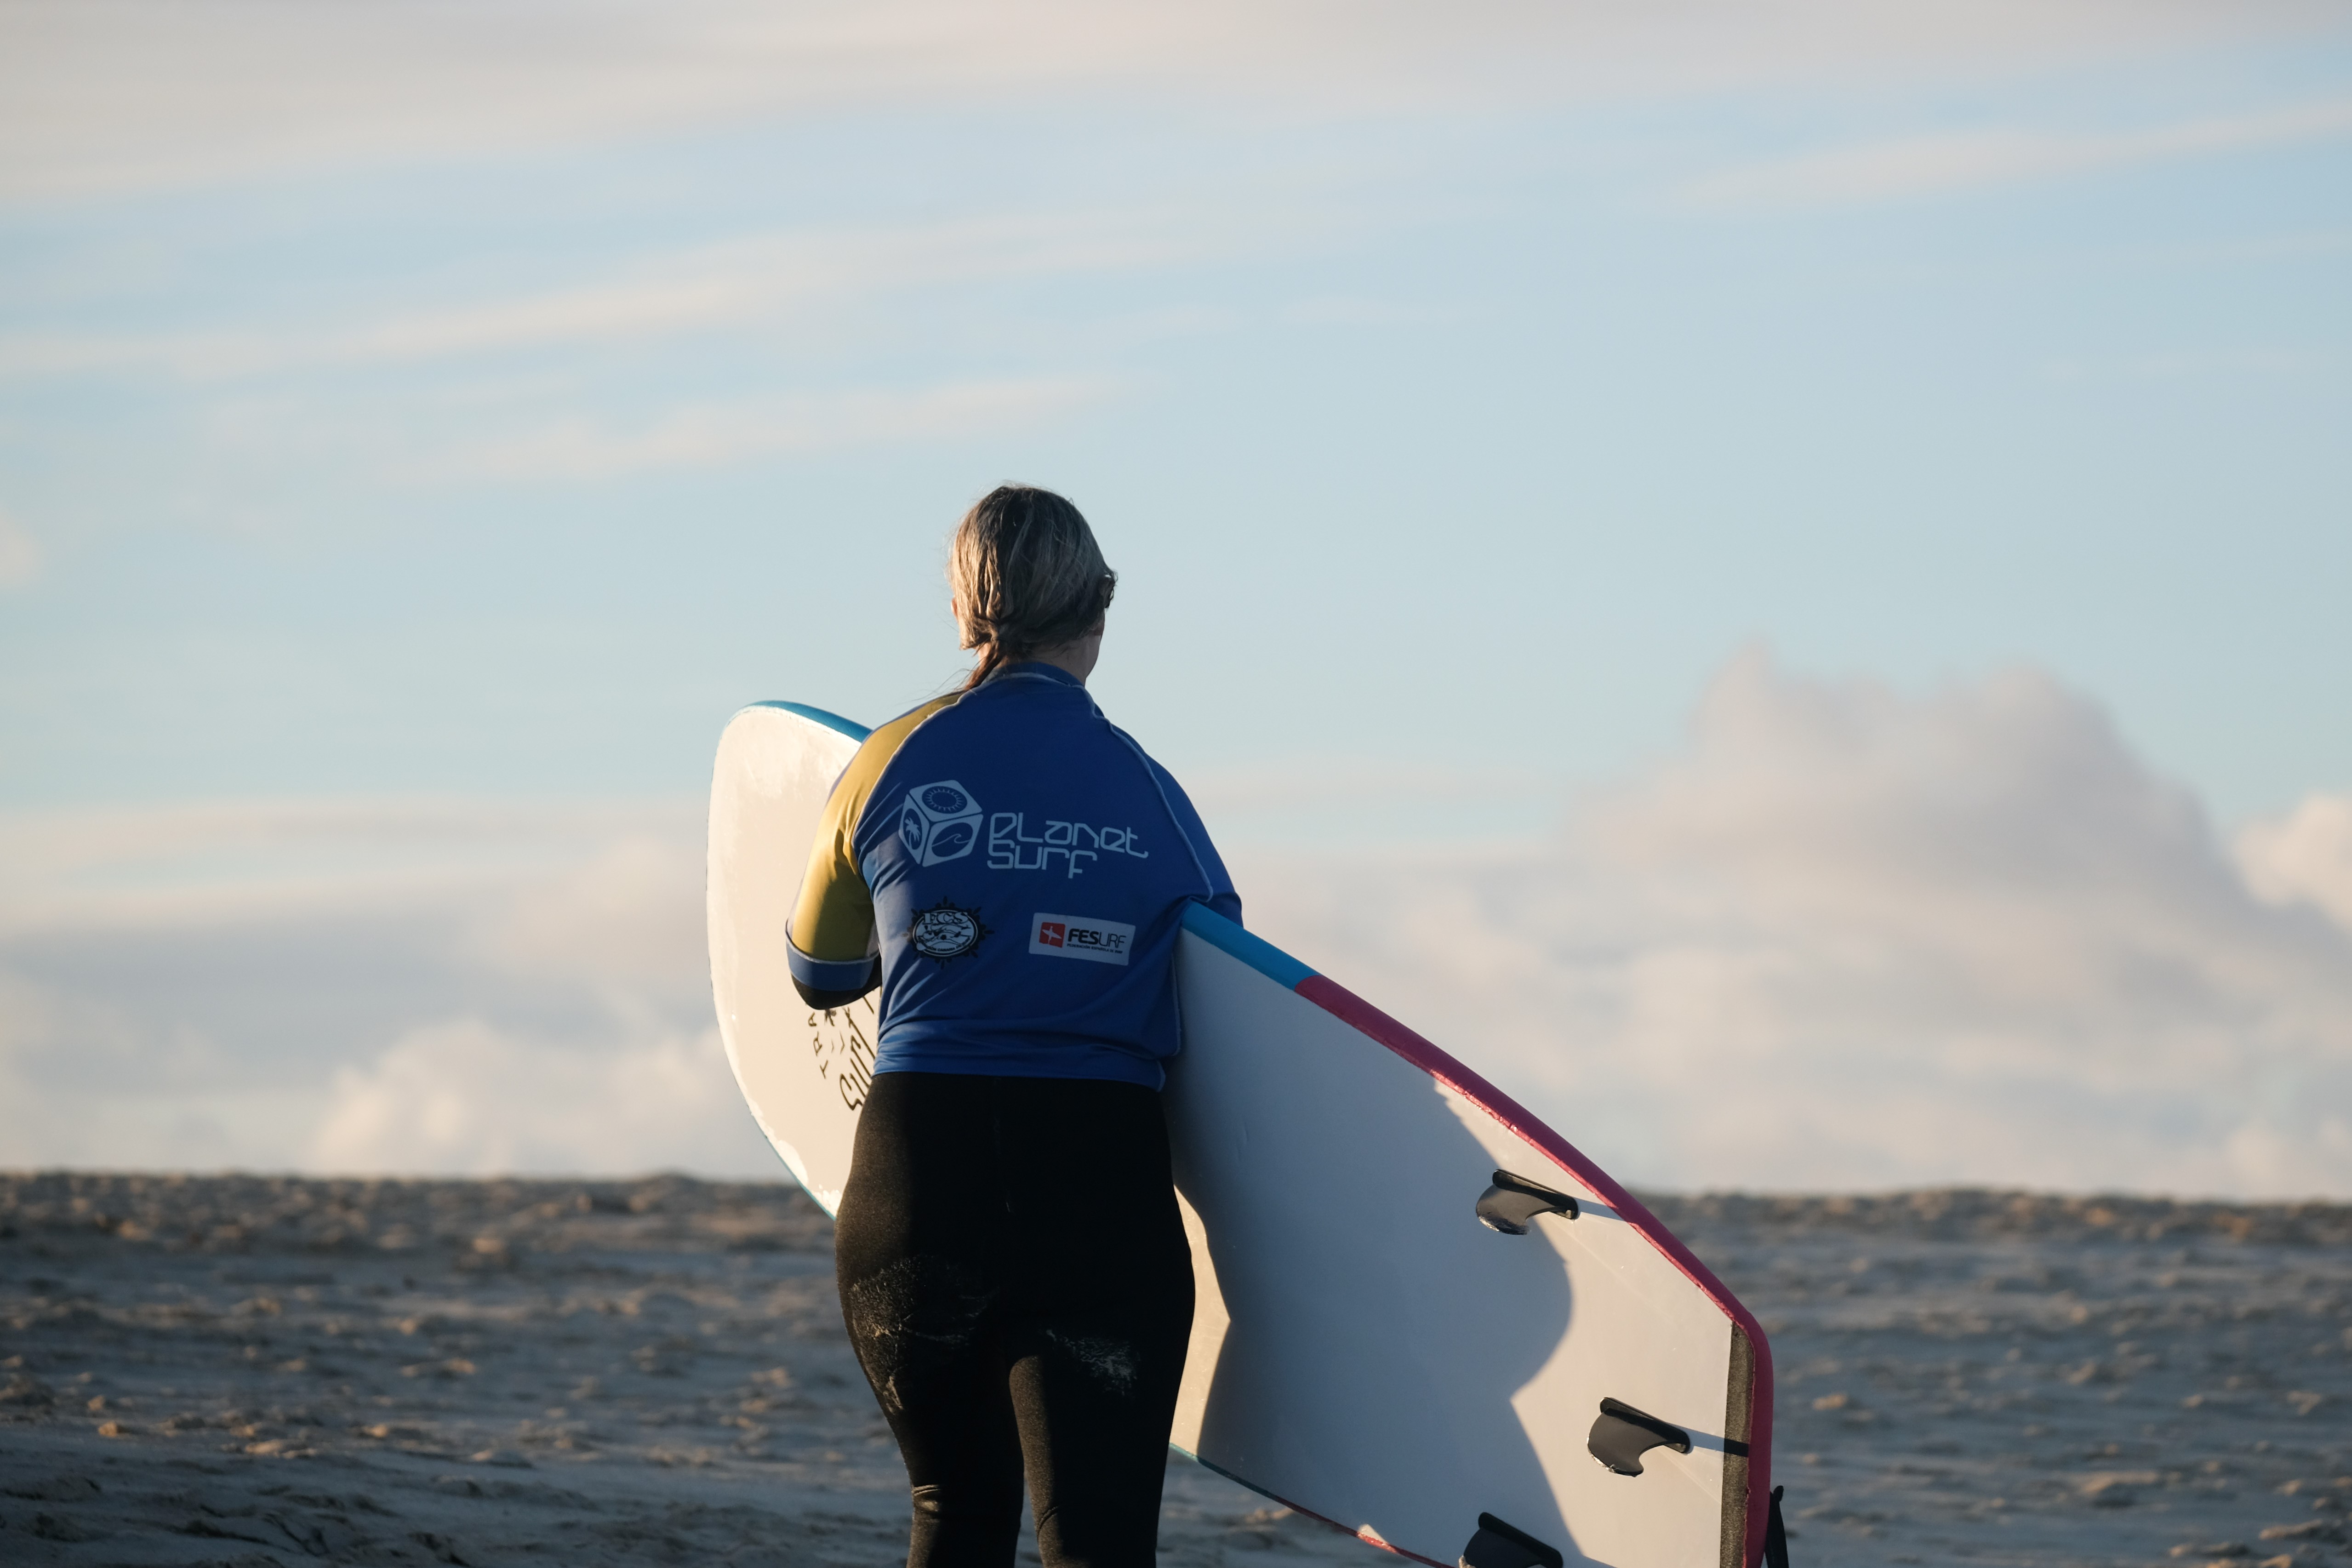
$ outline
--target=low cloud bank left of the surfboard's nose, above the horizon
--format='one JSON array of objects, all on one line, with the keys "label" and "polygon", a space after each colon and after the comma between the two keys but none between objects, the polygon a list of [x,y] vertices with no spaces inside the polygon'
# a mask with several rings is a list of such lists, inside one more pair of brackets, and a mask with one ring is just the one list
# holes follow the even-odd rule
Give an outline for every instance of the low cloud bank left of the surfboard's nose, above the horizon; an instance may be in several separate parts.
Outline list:
[{"label": "low cloud bank left of the surfboard's nose, above the horizon", "polygon": [[696,802],[16,813],[0,872],[5,1164],[779,1168]]}]

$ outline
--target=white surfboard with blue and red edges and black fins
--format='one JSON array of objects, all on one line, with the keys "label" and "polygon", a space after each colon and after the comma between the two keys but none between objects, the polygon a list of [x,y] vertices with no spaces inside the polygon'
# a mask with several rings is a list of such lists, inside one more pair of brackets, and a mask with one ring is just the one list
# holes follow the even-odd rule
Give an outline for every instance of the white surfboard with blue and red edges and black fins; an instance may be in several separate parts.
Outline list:
[{"label": "white surfboard with blue and red edges and black fins", "polygon": [[[783,943],[863,738],[757,703],[710,783],[720,1037],[826,1213],[880,1030],[873,999],[804,1006]],[[1197,1307],[1171,1446],[1432,1568],[1762,1559],[1771,1349],[1656,1215],[1461,1060],[1204,907],[1176,985]]]}]

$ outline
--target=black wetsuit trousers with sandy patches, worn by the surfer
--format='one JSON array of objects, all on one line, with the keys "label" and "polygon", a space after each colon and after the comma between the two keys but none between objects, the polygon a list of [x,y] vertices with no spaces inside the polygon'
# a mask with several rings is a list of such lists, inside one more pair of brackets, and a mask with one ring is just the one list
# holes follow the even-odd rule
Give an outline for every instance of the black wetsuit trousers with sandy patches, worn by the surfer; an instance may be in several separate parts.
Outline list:
[{"label": "black wetsuit trousers with sandy patches, worn by the surfer", "polygon": [[1160,1095],[887,1072],[833,1239],[915,1490],[910,1568],[1150,1568],[1192,1331]]}]

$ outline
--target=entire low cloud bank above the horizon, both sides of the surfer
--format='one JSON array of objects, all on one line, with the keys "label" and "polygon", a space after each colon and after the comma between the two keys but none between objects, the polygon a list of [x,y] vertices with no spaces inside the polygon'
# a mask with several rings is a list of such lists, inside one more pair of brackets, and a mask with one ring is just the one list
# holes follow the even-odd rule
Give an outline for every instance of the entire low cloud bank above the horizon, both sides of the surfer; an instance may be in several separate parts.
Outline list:
[{"label": "entire low cloud bank above the horizon, both sides of the surfer", "polygon": [[[1752,651],[1515,839],[1392,830],[1477,806],[1442,764],[1197,783],[1256,931],[1628,1180],[2352,1197],[2352,797],[2230,846],[2034,670]],[[0,818],[0,1152],[774,1171],[710,1039],[699,802]]]}]

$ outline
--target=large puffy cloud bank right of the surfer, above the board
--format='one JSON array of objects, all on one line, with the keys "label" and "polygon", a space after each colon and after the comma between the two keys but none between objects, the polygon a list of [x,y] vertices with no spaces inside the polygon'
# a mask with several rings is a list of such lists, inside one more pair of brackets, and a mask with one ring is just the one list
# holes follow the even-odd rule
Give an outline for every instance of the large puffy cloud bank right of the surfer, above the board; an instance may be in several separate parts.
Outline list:
[{"label": "large puffy cloud bank right of the surfer, above the board", "polygon": [[2352,1192],[2352,940],[2030,670],[1750,654],[1555,839],[1237,863],[1256,929],[1628,1180]]}]

